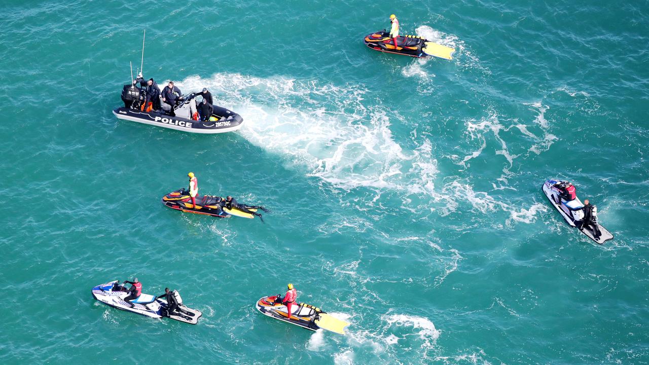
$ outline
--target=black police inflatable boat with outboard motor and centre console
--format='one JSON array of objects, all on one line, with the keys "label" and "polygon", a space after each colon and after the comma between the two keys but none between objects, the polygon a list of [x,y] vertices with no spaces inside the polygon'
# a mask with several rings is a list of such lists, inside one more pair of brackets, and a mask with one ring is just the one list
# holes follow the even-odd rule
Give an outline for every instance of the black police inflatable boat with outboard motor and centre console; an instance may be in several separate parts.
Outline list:
[{"label": "black police inflatable boat with outboard motor and centre console", "polygon": [[218,105],[212,106],[214,110],[210,120],[199,120],[196,96],[196,93],[191,93],[180,97],[180,101],[173,107],[174,116],[171,116],[171,106],[162,102],[162,96],[158,95],[160,100],[157,103],[162,107],[162,110],[145,109],[143,108],[145,103],[144,90],[137,86],[124,85],[121,94],[124,107],[113,110],[113,114],[123,120],[137,121],[191,133],[225,133],[241,128],[243,118],[232,110]]}]

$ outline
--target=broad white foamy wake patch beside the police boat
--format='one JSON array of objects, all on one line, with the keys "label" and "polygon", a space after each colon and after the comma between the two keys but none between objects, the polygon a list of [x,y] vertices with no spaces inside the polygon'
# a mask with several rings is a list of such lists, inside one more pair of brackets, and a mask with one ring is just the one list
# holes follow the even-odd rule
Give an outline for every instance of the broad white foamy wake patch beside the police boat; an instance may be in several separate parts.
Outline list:
[{"label": "broad white foamy wake patch beside the police boat", "polygon": [[288,164],[306,167],[310,176],[344,189],[432,194],[437,161],[430,140],[404,151],[390,129],[393,117],[380,105],[366,107],[361,87],[221,73],[178,86],[210,89],[215,103],[243,116],[240,132],[247,140],[289,157]]}]

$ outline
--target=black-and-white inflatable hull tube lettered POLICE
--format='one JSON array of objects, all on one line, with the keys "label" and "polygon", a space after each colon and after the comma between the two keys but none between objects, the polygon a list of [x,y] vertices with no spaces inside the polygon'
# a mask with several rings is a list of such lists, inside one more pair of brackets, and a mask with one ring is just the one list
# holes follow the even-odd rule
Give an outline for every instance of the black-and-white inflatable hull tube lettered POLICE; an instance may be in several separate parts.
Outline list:
[{"label": "black-and-white inflatable hull tube lettered POLICE", "polygon": [[[214,108],[219,108],[214,106]],[[227,110],[225,108],[221,108]],[[169,116],[167,114],[162,114],[158,112],[143,112],[137,109],[132,108],[117,108],[113,110],[113,114],[119,119],[137,121],[138,123],[144,123],[149,125],[156,125],[158,127],[175,129],[176,131],[184,131],[190,133],[203,133],[203,134],[215,134],[215,133],[225,133],[237,131],[241,128],[241,123],[243,123],[243,118],[232,112],[227,118],[221,118],[217,121],[199,121],[199,120],[190,120],[187,118],[180,118],[177,116]],[[225,114],[225,113],[224,113]]]}]

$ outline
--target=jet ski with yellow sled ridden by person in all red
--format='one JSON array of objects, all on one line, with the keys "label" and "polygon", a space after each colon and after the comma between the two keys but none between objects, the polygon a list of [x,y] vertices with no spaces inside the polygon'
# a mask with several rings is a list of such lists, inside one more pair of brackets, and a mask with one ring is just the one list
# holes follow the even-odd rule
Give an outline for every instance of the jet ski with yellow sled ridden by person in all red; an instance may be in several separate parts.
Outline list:
[{"label": "jet ski with yellow sled ridden by person in all red", "polygon": [[264,316],[298,325],[311,331],[326,329],[327,331],[345,334],[345,327],[350,324],[347,321],[331,316],[320,308],[305,303],[291,305],[291,316],[289,316],[286,305],[282,304],[282,297],[279,295],[262,297],[257,301],[255,307]]}]

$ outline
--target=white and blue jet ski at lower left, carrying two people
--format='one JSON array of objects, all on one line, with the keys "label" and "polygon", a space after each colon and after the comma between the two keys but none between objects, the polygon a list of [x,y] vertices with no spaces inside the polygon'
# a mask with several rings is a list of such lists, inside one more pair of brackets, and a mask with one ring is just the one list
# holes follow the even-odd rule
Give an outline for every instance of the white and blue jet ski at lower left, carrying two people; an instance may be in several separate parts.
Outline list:
[{"label": "white and blue jet ski at lower left, carrying two people", "polygon": [[199,318],[202,316],[200,310],[191,309],[182,304],[182,298],[178,292],[174,293],[176,301],[179,304],[180,312],[175,311],[169,313],[167,301],[165,299],[157,299],[155,296],[150,294],[140,294],[138,299],[131,301],[133,307],[130,307],[125,301],[124,298],[127,297],[129,293],[127,289],[119,284],[119,280],[114,280],[106,284],[97,285],[92,288],[92,296],[95,297],[98,301],[101,301],[104,304],[110,305],[110,307],[115,307],[117,309],[126,310],[128,312],[134,312],[141,314],[142,316],[147,316],[151,318],[162,318],[167,317],[172,320],[177,320],[185,323],[191,323],[195,325],[198,323]]}]

